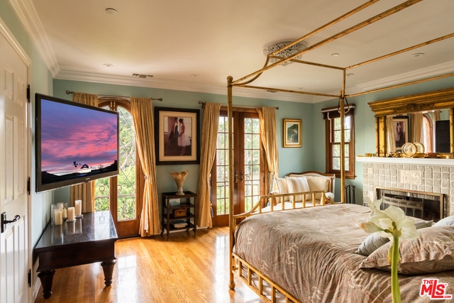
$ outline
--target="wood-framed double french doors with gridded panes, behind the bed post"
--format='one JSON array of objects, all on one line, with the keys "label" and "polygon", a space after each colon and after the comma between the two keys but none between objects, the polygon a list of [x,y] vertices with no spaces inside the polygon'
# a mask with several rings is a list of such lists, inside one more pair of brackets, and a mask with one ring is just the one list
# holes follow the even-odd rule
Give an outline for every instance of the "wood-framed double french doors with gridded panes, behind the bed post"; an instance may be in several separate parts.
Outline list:
[{"label": "wood-framed double french doors with gridded panes, behind the bed post", "polygon": [[[265,153],[255,111],[233,110],[233,201],[235,213],[248,211],[267,191]],[[211,169],[213,226],[228,225],[229,214],[228,117],[219,116],[216,160]]]}]

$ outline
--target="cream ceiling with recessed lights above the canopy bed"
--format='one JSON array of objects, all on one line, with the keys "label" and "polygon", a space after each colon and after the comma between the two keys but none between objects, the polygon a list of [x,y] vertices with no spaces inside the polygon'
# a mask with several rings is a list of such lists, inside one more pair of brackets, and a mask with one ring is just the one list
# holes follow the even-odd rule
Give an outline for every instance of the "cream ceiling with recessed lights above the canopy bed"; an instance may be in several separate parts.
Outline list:
[{"label": "cream ceiling with recessed lights above the canopy bed", "polygon": [[[226,94],[229,75],[235,80],[260,70],[266,45],[300,38],[365,3],[376,2],[305,39],[313,49],[301,60],[350,67],[454,32],[452,0],[412,0],[418,3],[317,48],[336,33],[409,1],[10,1],[55,79],[215,94]],[[108,8],[116,13],[106,12]],[[453,71],[454,38],[449,38],[348,70],[353,75],[346,77],[346,92]],[[253,84],[339,94],[342,82],[342,70],[292,63],[267,70]],[[235,87],[233,95],[326,99]]]}]

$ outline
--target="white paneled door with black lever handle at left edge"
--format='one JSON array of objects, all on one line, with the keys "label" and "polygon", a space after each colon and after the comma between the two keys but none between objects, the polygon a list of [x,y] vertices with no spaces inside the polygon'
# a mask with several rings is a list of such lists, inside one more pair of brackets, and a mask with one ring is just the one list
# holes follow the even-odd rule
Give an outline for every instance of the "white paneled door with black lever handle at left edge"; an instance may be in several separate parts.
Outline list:
[{"label": "white paneled door with black lever handle at left edge", "polygon": [[2,303],[31,302],[28,287],[28,64],[17,45],[0,22],[0,214],[6,214],[6,220],[13,221],[4,224],[0,233]]}]

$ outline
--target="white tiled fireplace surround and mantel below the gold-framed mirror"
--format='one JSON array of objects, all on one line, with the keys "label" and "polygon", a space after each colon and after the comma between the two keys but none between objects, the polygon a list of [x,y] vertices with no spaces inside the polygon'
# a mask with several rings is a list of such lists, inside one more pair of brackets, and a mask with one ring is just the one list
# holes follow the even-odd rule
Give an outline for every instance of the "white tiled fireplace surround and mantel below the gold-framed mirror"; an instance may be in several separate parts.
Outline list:
[{"label": "white tiled fireplace surround and mantel below the gold-framed mirror", "polygon": [[375,199],[377,187],[444,194],[445,216],[454,215],[454,160],[357,157],[362,162],[362,197]]}]

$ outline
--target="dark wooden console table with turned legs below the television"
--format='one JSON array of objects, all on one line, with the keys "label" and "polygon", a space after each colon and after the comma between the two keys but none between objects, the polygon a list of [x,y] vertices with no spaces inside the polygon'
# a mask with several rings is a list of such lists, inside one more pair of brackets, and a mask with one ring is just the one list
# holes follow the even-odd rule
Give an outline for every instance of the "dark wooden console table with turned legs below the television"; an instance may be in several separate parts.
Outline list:
[{"label": "dark wooden console table with turned legs below the television", "polygon": [[57,268],[101,262],[104,284],[112,284],[118,239],[110,211],[85,213],[81,219],[48,225],[35,247],[39,258],[38,277],[43,297],[52,294],[52,280]]}]

